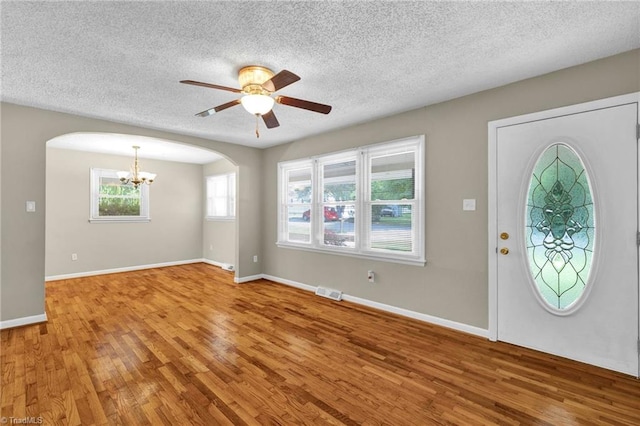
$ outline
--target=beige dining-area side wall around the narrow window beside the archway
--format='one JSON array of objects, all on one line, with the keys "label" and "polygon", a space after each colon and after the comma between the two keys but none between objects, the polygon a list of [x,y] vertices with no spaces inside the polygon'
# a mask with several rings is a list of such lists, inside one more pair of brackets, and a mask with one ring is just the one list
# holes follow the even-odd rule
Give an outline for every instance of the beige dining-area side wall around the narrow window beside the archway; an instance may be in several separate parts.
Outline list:
[{"label": "beige dining-area side wall around the narrow window beside the archway", "polygon": [[[203,181],[207,176],[237,173],[237,167],[230,161],[221,159],[206,164],[202,168]],[[203,198],[206,197],[206,183]],[[206,215],[203,206],[203,216]],[[235,220],[204,220],[202,225],[202,257],[215,263],[236,264],[237,232]]]}]

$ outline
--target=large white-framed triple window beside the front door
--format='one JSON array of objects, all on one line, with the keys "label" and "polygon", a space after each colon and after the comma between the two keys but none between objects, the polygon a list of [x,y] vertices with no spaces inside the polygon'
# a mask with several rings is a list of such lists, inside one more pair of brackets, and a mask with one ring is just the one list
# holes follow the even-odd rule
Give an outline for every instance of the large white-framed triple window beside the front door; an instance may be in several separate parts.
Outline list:
[{"label": "large white-framed triple window beside the front door", "polygon": [[278,246],[424,264],[424,137],[278,164]]}]

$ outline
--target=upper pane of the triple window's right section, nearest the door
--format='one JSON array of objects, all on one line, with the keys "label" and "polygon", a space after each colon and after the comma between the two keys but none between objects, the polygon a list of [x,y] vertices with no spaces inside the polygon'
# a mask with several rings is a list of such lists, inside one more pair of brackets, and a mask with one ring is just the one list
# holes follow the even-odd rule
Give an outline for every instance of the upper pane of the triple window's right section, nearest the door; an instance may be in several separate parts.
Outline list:
[{"label": "upper pane of the triple window's right section, nearest the door", "polygon": [[413,200],[415,153],[371,159],[371,200]]}]

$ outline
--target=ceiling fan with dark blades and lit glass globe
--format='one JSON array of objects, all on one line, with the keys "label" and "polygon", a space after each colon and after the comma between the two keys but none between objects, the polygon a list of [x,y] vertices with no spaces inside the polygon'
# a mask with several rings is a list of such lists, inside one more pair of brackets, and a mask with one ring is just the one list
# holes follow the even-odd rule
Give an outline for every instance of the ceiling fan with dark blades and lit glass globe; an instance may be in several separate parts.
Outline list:
[{"label": "ceiling fan with dark blades and lit glass globe", "polygon": [[197,113],[196,115],[199,117],[208,117],[227,108],[231,108],[232,106],[242,104],[248,112],[256,116],[256,137],[260,137],[260,133],[258,132],[258,117],[262,117],[264,124],[268,129],[272,129],[280,125],[272,109],[276,102],[281,105],[302,108],[308,111],[319,112],[321,114],[329,114],[329,112],[331,112],[330,105],[290,98],[288,96],[276,96],[275,98],[271,96],[274,92],[287,87],[298,80],[300,80],[300,77],[291,71],[282,70],[279,73],[274,74],[274,72],[269,68],[251,65],[240,69],[238,72],[238,81],[240,82],[242,89],[202,83],[193,80],[181,80],[180,83],[209,87],[211,89],[226,90],[233,93],[242,93],[243,96],[239,99],[209,108]]}]

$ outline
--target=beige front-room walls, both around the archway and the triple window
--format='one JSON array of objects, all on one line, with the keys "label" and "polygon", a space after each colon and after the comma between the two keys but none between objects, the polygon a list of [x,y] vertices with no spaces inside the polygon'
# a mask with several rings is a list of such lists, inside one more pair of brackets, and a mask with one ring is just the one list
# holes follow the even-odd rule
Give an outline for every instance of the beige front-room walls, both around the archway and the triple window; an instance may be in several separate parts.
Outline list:
[{"label": "beige front-room walls, both around the archway and the triple window", "polygon": [[[129,133],[213,149],[238,166],[236,274],[260,273],[487,327],[487,122],[636,92],[640,50],[266,150],[2,104],[0,321],[44,312],[45,143],[78,131]],[[339,114],[335,108],[332,114]],[[426,136],[427,265],[280,249],[278,161]],[[477,211],[463,212],[475,198]],[[25,213],[35,200],[36,213]],[[258,255],[259,262],[252,258]],[[377,282],[369,284],[372,269]]]}]

